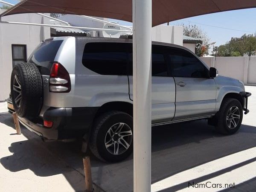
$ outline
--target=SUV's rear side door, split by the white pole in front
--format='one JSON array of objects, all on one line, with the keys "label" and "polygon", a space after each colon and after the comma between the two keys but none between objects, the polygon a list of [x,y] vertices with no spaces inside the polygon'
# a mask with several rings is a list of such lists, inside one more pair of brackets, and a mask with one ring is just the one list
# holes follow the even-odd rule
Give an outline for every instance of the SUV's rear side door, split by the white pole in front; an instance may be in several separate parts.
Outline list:
[{"label": "SUV's rear side door, split by the white pole in front", "polygon": [[[131,50],[132,47],[129,50],[129,82],[133,99]],[[152,45],[152,123],[171,121],[175,114],[175,83],[168,74],[165,53],[165,46]]]}]

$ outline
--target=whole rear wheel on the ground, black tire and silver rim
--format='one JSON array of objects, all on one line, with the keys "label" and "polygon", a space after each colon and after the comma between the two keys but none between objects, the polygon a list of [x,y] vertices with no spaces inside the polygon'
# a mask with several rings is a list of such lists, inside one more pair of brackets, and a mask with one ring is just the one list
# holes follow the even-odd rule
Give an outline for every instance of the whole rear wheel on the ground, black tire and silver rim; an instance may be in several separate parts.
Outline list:
[{"label": "whole rear wheel on the ground, black tire and silver rim", "polygon": [[96,119],[90,138],[90,150],[101,160],[117,162],[133,149],[133,119],[128,113],[110,111]]}]

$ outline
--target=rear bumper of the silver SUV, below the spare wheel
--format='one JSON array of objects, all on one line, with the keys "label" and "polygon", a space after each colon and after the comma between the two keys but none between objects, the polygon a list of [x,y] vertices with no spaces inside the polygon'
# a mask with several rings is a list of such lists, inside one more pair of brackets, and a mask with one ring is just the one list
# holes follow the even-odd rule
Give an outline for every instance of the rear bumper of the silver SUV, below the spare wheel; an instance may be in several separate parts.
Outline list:
[{"label": "rear bumper of the silver SUV, below the spare wheel", "polygon": [[[19,117],[20,123],[30,131],[47,140],[64,140],[83,137],[90,131],[98,107],[49,108],[43,118],[29,120]],[[44,126],[44,120],[53,122],[51,128]]]}]

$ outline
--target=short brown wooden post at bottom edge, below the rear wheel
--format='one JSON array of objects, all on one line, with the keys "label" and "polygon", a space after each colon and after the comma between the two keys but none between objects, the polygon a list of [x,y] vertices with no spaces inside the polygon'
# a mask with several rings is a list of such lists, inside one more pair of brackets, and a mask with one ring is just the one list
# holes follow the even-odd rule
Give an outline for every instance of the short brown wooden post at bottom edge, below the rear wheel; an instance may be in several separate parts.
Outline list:
[{"label": "short brown wooden post at bottom edge, below the rear wheel", "polygon": [[83,162],[84,162],[86,192],[93,192],[93,181],[92,181],[92,172],[91,172],[91,166],[90,166],[90,157],[88,156],[84,157]]}]

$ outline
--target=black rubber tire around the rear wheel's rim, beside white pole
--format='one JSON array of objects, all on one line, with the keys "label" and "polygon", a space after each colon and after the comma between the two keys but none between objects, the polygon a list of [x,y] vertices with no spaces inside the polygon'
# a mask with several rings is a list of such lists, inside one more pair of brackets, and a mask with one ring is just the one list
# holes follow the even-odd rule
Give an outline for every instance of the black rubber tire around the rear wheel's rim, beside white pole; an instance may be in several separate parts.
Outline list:
[{"label": "black rubber tire around the rear wheel's rim, beside white pole", "polygon": [[[128,127],[131,129],[131,136],[125,136],[127,143],[131,140],[130,146],[125,149],[121,139],[118,142],[121,144],[115,143],[112,144],[108,149],[105,146],[105,139],[109,136],[108,131],[112,127],[115,130],[115,126],[118,127],[118,123],[124,123],[122,131],[128,130]],[[115,126],[114,126],[115,125]],[[122,132],[121,131],[121,132]],[[116,134],[116,133],[115,133]],[[100,160],[108,162],[118,162],[127,158],[133,150],[133,119],[128,113],[122,111],[109,111],[107,113],[99,116],[93,126],[93,130],[90,137],[90,151],[98,157]],[[111,137],[108,137],[108,140]],[[113,137],[112,137],[113,140]],[[113,143],[114,141],[112,141]],[[113,149],[114,145],[119,145],[120,154],[113,154],[110,151]],[[128,145],[126,145],[128,146]],[[122,149],[122,151],[121,151]],[[121,153],[122,152],[122,153]]]}]

